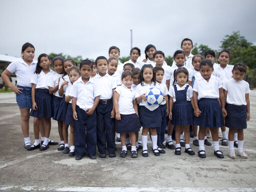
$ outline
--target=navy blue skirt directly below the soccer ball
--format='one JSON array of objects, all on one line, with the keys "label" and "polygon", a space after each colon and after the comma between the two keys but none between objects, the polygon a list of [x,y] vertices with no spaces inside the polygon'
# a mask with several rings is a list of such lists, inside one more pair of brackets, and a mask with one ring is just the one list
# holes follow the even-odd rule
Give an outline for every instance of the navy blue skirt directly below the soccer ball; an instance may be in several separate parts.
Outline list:
[{"label": "navy blue skirt directly below the soccer ball", "polygon": [[149,110],[145,106],[139,107],[140,125],[147,128],[156,128],[161,126],[162,115],[160,107]]}]

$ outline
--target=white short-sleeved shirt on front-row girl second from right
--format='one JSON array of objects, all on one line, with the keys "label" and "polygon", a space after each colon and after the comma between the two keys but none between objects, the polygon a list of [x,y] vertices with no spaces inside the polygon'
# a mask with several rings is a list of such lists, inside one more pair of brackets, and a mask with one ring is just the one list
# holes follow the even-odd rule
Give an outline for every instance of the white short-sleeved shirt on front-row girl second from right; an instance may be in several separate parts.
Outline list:
[{"label": "white short-sleeved shirt on front-row girl second from right", "polygon": [[198,93],[198,100],[201,98],[219,98],[218,89],[222,83],[217,76],[211,75],[207,82],[202,76],[195,79],[193,90]]}]

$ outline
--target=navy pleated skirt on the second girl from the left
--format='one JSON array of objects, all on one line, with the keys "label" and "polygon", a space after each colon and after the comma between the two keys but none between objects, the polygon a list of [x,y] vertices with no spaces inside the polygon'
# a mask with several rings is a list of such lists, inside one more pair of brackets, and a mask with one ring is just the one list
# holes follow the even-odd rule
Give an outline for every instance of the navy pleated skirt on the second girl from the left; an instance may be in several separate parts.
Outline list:
[{"label": "navy pleated skirt on the second girl from the left", "polygon": [[47,88],[35,89],[35,103],[37,105],[37,110],[31,109],[30,116],[37,118],[52,117],[52,96],[49,94]]}]

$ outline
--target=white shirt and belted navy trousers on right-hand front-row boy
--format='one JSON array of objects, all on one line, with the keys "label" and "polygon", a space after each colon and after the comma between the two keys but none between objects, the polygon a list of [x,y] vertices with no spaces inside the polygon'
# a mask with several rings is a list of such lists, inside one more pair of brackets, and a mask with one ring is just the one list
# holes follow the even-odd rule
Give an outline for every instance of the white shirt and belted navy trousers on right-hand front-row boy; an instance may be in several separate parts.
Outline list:
[{"label": "white shirt and belted navy trousers on right-hand front-row boy", "polygon": [[114,119],[110,117],[110,113],[113,108],[112,89],[116,87],[116,80],[108,73],[104,76],[96,74],[95,83],[100,90],[99,103],[96,107],[98,151],[104,154],[107,149],[109,153],[114,153]]}]

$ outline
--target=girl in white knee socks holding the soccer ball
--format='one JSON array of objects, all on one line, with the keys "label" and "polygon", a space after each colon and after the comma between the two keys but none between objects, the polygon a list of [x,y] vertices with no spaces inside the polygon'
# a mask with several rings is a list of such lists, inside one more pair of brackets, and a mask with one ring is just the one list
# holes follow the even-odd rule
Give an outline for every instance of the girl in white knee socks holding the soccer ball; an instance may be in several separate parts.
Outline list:
[{"label": "girl in white knee socks holding the soccer ball", "polygon": [[137,85],[135,90],[136,101],[139,102],[139,120],[142,126],[141,140],[142,140],[142,156],[147,157],[147,132],[150,128],[152,150],[155,156],[159,156],[160,152],[157,150],[157,132],[156,127],[161,126],[161,110],[159,105],[149,106],[146,102],[145,92],[150,87],[157,86],[155,82],[155,73],[151,64],[144,64],[140,72],[141,83]]}]

